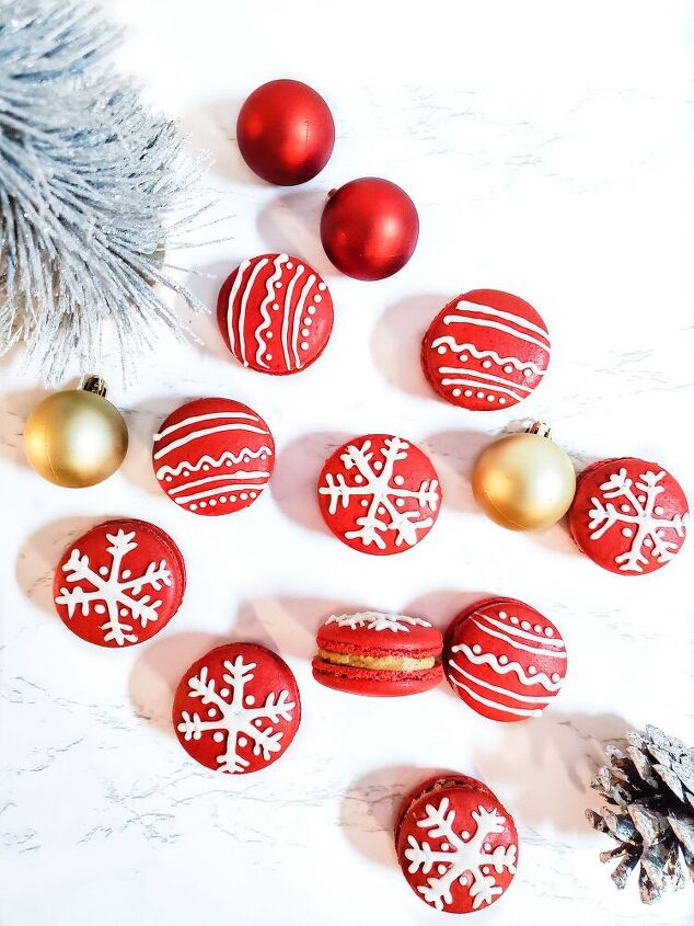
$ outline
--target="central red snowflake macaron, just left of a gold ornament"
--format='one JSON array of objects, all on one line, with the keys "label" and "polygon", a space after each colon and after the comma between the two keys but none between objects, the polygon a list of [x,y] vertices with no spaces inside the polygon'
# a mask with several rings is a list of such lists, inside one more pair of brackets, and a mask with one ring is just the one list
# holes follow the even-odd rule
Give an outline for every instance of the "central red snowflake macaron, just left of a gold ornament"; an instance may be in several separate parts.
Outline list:
[{"label": "central red snowflake macaron, just left of a gold ornament", "polygon": [[390,434],[366,434],[335,450],[317,491],[333,534],[354,550],[374,555],[416,546],[433,527],[441,504],[431,460]]}]

